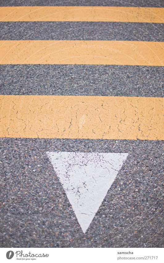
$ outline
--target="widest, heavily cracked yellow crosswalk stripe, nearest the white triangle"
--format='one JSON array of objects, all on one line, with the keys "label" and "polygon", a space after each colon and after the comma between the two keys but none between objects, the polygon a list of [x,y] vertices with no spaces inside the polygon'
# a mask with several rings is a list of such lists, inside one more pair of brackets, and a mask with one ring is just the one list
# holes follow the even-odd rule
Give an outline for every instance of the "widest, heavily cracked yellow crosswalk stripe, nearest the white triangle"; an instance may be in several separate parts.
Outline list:
[{"label": "widest, heavily cracked yellow crosswalk stripe, nearest the white triangle", "polygon": [[1,137],[162,140],[163,99],[0,95]]}]

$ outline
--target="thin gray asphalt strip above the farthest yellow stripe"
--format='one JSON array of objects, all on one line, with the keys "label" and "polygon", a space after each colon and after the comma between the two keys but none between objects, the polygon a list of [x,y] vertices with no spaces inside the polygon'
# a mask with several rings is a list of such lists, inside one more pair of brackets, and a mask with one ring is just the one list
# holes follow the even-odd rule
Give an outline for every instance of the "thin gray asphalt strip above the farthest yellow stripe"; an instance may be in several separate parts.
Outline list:
[{"label": "thin gray asphalt strip above the farthest yellow stripe", "polygon": [[164,7],[162,0],[1,0],[1,6],[119,6]]}]

